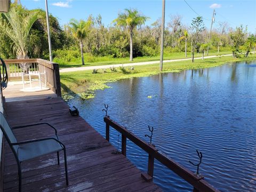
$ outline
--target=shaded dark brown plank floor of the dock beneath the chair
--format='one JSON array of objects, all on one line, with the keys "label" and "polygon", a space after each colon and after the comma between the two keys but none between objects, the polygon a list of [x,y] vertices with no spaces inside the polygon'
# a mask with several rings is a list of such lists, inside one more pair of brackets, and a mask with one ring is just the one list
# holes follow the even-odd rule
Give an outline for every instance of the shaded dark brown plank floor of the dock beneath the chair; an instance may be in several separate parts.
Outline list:
[{"label": "shaded dark brown plank floor of the dock beneath the chair", "polygon": [[[7,102],[5,114],[11,126],[47,122],[58,130],[67,147],[69,186],[65,183],[63,154],[45,155],[23,162],[22,191],[162,191],[146,182],[124,155],[112,154],[115,148],[80,116],[71,116],[60,98]],[[29,134],[28,134],[29,133]],[[18,140],[49,137],[43,126],[15,130]],[[4,192],[18,191],[18,168],[5,142]],[[146,163],[146,162],[145,162]]]}]

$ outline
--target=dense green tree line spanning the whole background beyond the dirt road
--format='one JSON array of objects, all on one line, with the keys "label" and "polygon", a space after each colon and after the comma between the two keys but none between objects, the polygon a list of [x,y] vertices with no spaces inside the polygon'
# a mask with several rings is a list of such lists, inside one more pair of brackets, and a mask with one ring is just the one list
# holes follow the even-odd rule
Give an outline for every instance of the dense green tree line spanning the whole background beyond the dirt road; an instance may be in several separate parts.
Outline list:
[{"label": "dense green tree line spanning the whole background beyond the dirt road", "polygon": [[[47,44],[47,29],[45,12],[43,10],[27,10],[21,5],[12,4],[11,9],[18,10],[21,17],[37,12],[38,19],[34,22],[27,37],[27,56],[29,58],[49,59]],[[153,57],[159,54],[161,20],[158,19],[149,26],[143,25],[148,19],[138,10],[125,10],[106,26],[102,23],[101,15],[84,20],[70,20],[60,27],[58,19],[50,15],[50,31],[52,40],[53,57],[72,61],[86,57],[108,56],[124,58],[140,56]],[[3,58],[17,58],[15,42],[6,33],[8,18],[1,14],[0,27],[0,56]],[[3,25],[7,23],[7,25]],[[255,50],[255,35],[247,33],[244,26],[236,29],[230,28],[226,22],[214,23],[210,43],[209,30],[205,28],[202,18],[191,18],[191,25],[182,23],[181,15],[171,15],[165,28],[165,54],[184,52],[185,57],[195,53],[204,54],[207,46],[210,50],[233,52],[234,57],[242,55],[242,51],[249,55]],[[132,46],[130,46],[132,44]],[[17,50],[16,50],[17,51]],[[130,54],[131,53],[131,54]],[[92,60],[93,61],[93,60]]]}]

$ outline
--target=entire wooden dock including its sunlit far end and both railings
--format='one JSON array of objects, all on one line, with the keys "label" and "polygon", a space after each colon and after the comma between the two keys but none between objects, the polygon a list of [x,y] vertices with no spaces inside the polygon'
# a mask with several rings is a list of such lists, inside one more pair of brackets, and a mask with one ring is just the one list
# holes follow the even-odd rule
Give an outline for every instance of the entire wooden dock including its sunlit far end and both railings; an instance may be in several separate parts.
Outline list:
[{"label": "entire wooden dock including its sunlit far end and both railings", "polygon": [[[106,139],[82,117],[71,116],[68,105],[60,98],[61,86],[57,63],[42,59],[5,60],[7,74],[12,80],[17,81],[21,78],[20,62],[31,63],[29,73],[45,72],[46,77],[41,80],[43,82],[46,80],[46,85],[50,90],[22,92],[22,84],[9,84],[3,90],[6,101],[4,114],[11,126],[40,122],[55,126],[60,140],[67,148],[69,173],[69,186],[66,186],[63,154],[60,154],[60,165],[57,163],[57,154],[23,162],[21,164],[22,191],[162,191],[152,181],[156,159],[166,166],[166,169],[172,170],[190,183],[191,191],[219,192],[204,180],[203,175],[197,175],[173,161],[159,152],[151,143],[141,140],[109,116],[104,117]],[[38,82],[34,81],[31,87],[36,86]],[[0,97],[1,111],[3,111],[3,103]],[[108,142],[110,127],[122,134],[122,154],[113,153],[116,149]],[[18,141],[51,137],[54,134],[52,129],[41,125],[14,130],[14,133]],[[148,162],[145,162],[148,164],[147,173],[141,173],[125,157],[127,139],[148,153]],[[18,166],[7,142],[5,142],[4,149],[1,156],[0,191],[15,192],[18,191]]]}]

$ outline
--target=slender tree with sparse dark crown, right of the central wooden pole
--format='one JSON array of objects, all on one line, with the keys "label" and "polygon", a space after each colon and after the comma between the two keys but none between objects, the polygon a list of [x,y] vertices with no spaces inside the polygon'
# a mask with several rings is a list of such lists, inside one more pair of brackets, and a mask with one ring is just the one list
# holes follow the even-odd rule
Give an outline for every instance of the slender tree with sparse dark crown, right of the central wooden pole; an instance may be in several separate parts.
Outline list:
[{"label": "slender tree with sparse dark crown, right of the central wooden pole", "polygon": [[191,54],[192,54],[192,62],[194,62],[194,55],[195,49],[198,46],[198,36],[205,30],[204,22],[202,17],[197,17],[192,20],[191,27],[190,27],[192,34],[191,34]]}]

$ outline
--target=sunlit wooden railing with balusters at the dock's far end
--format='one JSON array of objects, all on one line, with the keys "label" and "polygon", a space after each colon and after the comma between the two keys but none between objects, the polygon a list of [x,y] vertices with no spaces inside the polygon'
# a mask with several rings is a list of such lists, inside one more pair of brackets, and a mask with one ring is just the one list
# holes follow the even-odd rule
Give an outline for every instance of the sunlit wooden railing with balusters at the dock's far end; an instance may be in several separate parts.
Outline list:
[{"label": "sunlit wooden railing with balusters at the dock's far end", "polygon": [[[61,97],[60,88],[60,72],[58,63],[50,62],[43,59],[6,59],[4,60],[7,68],[7,74],[9,79],[21,79],[22,69],[19,67],[19,63],[31,63],[29,67],[30,73],[44,73],[46,72],[46,83],[50,89]],[[44,82],[44,76],[41,81]]]}]

